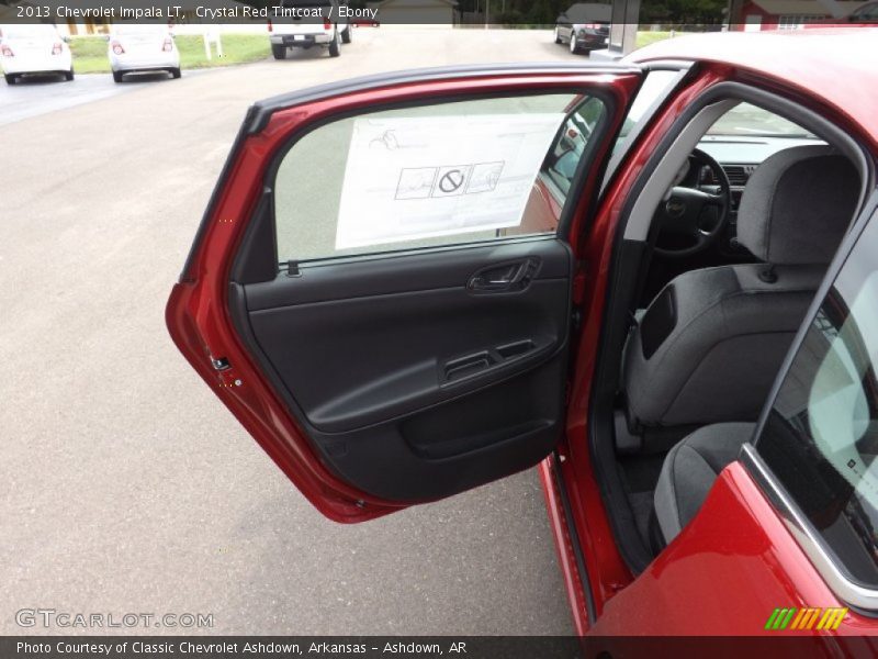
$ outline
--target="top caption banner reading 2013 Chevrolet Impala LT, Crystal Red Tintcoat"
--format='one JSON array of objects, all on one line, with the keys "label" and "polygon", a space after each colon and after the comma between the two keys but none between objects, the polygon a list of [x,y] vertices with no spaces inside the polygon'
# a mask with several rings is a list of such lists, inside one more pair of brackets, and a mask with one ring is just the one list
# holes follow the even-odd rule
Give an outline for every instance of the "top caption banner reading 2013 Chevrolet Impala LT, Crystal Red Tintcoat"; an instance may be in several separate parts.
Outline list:
[{"label": "top caption banner reading 2013 Chevrolet Impala LT, Crystal Red Tintcoat", "polygon": [[624,15],[631,23],[665,30],[719,30],[744,24],[752,27],[754,21],[758,21],[757,27],[796,27],[853,20],[832,13],[848,10],[819,0],[785,5],[783,15],[774,7],[766,0],[0,0],[0,24],[266,24],[330,20],[372,26],[551,27],[562,19],[582,25],[608,23],[611,16]]}]

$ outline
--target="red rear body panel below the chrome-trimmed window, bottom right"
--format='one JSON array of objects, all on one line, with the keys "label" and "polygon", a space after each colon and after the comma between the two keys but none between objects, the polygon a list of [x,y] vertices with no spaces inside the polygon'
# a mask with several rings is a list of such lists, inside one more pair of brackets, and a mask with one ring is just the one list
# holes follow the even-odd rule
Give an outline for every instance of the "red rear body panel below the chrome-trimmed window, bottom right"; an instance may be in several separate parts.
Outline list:
[{"label": "red rear body panel below the chrome-trimmed window, bottom right", "polygon": [[[598,636],[772,634],[778,606],[845,606],[814,571],[764,493],[740,462],[728,467],[698,515],[629,588],[607,603]],[[835,632],[875,634],[848,613]]]}]

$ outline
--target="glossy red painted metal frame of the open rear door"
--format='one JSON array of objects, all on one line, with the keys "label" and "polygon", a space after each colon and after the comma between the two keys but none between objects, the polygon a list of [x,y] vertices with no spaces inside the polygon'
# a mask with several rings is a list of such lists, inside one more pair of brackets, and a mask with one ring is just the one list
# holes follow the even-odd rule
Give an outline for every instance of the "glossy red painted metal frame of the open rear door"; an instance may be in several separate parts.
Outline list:
[{"label": "glossy red painted metal frame of the open rear door", "polygon": [[[191,255],[181,281],[166,309],[168,330],[180,351],[232,411],[262,449],[324,515],[337,522],[363,522],[401,510],[408,503],[389,502],[356,490],[333,474],[317,458],[305,433],[260,372],[244,347],[228,314],[227,286],[234,255],[262,191],[266,169],[273,155],[307,126],[341,111],[419,99],[527,92],[534,89],[600,87],[627,108],[640,85],[637,74],[596,79],[594,74],[520,74],[496,78],[473,76],[452,80],[409,82],[368,89],[272,113],[268,125],[247,136],[227,180],[218,190],[204,233]],[[616,129],[622,114],[617,118]],[[612,129],[614,126],[611,126]],[[615,134],[615,130],[611,131]],[[607,141],[606,149],[610,148]],[[590,187],[599,185],[592,177]],[[588,191],[583,199],[588,198]],[[585,203],[585,202],[583,202]],[[573,231],[576,231],[576,226]],[[225,359],[229,368],[214,370],[211,358]]]}]

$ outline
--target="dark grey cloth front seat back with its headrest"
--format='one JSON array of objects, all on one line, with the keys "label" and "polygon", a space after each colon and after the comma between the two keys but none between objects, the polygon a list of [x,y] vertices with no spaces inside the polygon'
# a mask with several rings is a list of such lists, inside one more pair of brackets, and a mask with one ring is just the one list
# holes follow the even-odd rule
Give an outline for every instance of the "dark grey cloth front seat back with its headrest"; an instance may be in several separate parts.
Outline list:
[{"label": "dark grey cloth front seat back with its headrest", "polygon": [[691,270],[650,304],[626,349],[629,425],[755,421],[859,197],[853,164],[797,146],[751,176],[738,238],[762,264]]}]

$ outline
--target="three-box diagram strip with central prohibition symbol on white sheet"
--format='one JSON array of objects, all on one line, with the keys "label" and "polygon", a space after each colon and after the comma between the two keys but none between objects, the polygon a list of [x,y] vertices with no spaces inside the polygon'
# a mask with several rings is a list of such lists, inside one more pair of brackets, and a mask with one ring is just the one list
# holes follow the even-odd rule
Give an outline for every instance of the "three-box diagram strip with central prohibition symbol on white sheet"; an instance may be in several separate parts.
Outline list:
[{"label": "three-box diagram strip with central prohibition symbol on white sheet", "polygon": [[493,192],[505,163],[403,168],[394,199],[427,199]]}]

